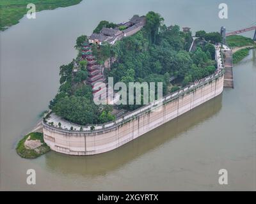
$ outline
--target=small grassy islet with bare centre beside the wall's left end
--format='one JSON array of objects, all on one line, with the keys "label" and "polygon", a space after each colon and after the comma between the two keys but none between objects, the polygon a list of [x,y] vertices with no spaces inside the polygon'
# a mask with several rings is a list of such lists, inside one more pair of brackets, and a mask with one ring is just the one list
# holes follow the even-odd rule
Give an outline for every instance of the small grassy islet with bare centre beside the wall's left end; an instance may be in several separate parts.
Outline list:
[{"label": "small grassy islet with bare centre beside the wall's left end", "polygon": [[44,142],[43,133],[29,133],[25,135],[16,147],[19,156],[33,159],[49,152],[50,147]]}]

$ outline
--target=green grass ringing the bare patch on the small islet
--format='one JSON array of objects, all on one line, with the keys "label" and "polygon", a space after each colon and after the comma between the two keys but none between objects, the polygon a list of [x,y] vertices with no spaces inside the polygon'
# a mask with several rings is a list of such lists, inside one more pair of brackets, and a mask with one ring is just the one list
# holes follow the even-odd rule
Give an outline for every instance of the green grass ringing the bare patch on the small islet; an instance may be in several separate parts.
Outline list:
[{"label": "green grass ringing the bare patch on the small islet", "polygon": [[[28,136],[30,135],[30,140],[40,140],[43,145],[40,147],[37,147],[36,149],[27,149],[24,145],[24,142],[27,140]],[[49,152],[50,147],[44,142],[44,135],[43,133],[29,133],[28,135],[25,135],[22,140],[18,143],[16,147],[16,152],[19,154],[19,156],[33,159],[36,157],[41,156],[42,154],[45,154],[46,152]]]}]

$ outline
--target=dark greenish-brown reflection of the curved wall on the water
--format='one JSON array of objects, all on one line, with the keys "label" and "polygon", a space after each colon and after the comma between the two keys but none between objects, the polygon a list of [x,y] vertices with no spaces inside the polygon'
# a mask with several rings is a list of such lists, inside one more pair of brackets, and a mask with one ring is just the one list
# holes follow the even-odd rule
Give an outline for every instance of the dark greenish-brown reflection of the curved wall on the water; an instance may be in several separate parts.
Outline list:
[{"label": "dark greenish-brown reflection of the curved wall on the water", "polygon": [[57,173],[90,175],[92,177],[106,175],[109,171],[121,168],[124,164],[147,152],[161,148],[161,145],[179,137],[184,131],[210,119],[220,112],[221,101],[222,94],[110,152],[95,156],[67,156],[52,151],[45,155],[45,163],[47,168]]}]

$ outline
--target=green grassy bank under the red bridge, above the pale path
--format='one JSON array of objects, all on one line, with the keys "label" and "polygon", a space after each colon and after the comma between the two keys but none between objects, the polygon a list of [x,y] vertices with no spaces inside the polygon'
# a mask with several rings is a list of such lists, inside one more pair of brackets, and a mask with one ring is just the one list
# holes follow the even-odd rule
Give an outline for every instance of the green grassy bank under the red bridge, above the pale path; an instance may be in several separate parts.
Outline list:
[{"label": "green grassy bank under the red bridge, above the pale path", "polygon": [[251,38],[244,36],[228,36],[227,37],[228,47],[244,47],[244,46],[256,46],[256,43]]}]

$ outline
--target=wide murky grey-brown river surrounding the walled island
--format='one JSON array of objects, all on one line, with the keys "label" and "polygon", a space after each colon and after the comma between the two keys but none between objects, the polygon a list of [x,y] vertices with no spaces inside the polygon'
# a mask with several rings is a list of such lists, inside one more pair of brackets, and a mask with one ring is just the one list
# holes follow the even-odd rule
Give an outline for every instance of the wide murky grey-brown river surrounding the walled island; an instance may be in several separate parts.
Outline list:
[{"label": "wide murky grey-brown river surrounding the walled island", "polygon": [[[36,13],[36,19],[1,32],[1,190],[255,190],[255,50],[234,66],[234,89],[145,136],[96,156],[49,152],[22,159],[22,135],[38,122],[59,86],[59,67],[72,61],[77,36],[90,35],[100,20],[124,22],[150,10],[167,25],[193,32],[247,27],[256,21],[255,0],[84,0],[76,6]],[[246,33],[252,38],[253,33]],[[228,185],[218,171],[228,171]],[[36,185],[26,183],[35,169]]]}]

